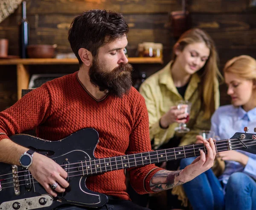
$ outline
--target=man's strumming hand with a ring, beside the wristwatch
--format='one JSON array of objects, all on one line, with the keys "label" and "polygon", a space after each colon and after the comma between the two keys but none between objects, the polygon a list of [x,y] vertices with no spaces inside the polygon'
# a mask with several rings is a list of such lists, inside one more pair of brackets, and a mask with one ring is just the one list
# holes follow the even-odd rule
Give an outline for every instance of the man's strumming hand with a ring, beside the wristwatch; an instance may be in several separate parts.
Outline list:
[{"label": "man's strumming hand with a ring, beside the wristwatch", "polygon": [[[50,195],[56,197],[57,193],[63,193],[64,188],[69,186],[65,180],[67,172],[55,161],[41,155],[37,152],[33,155],[32,165],[29,167],[32,176],[44,187]],[[51,185],[58,183],[55,190],[52,190]]]}]

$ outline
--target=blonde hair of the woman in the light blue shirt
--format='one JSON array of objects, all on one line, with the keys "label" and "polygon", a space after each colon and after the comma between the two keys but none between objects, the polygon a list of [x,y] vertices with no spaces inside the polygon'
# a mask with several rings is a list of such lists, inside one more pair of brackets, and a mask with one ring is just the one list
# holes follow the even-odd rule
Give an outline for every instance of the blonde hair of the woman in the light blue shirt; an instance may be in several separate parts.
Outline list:
[{"label": "blonde hair of the woman in the light blue shirt", "polygon": [[227,61],[223,72],[233,73],[240,78],[256,81],[256,60],[249,55],[240,55]]}]

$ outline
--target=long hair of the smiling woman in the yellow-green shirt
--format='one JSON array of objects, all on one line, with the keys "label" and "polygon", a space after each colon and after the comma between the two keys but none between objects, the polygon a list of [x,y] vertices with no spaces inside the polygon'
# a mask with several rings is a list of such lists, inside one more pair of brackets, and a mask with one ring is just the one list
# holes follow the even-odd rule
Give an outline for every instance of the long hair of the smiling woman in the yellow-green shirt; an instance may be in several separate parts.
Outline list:
[{"label": "long hair of the smiling woman in the yellow-green shirt", "polygon": [[[215,111],[214,88],[215,80],[223,79],[218,69],[218,53],[212,38],[201,29],[190,29],[184,32],[177,40],[175,45],[183,51],[183,49],[192,43],[204,42],[210,50],[209,58],[197,73],[201,77],[202,86],[200,89],[200,97],[204,104],[204,118],[210,118]],[[177,45],[178,43],[178,45]],[[175,62],[175,47],[172,52],[172,60]]]}]

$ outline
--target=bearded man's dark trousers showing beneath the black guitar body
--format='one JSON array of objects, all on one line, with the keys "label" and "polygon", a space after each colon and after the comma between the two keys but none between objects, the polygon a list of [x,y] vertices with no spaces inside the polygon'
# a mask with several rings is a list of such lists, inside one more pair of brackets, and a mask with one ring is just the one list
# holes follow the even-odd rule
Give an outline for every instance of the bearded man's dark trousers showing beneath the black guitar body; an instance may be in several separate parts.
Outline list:
[{"label": "bearded man's dark trousers showing beneath the black guitar body", "polygon": [[[86,208],[79,207],[64,207],[58,210],[86,210]],[[109,199],[108,204],[105,204],[101,208],[88,208],[88,210],[150,210],[145,207],[141,207],[134,204],[131,201],[121,200],[121,199]]]}]

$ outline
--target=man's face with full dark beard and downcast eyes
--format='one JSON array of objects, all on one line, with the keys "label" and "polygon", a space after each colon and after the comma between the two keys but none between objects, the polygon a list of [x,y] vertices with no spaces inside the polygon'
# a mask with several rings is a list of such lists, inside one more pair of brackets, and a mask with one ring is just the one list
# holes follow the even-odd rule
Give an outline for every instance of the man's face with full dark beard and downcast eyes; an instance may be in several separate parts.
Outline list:
[{"label": "man's face with full dark beard and downcast eyes", "polygon": [[100,91],[122,97],[132,86],[132,66],[128,64],[124,49],[127,38],[123,36],[99,48],[90,67],[90,81]]}]

